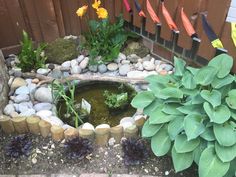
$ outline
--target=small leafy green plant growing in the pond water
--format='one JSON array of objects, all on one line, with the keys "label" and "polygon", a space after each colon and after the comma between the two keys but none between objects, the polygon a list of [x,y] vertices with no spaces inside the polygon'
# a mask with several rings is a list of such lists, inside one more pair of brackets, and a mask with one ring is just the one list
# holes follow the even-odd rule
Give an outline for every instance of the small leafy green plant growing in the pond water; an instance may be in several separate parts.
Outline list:
[{"label": "small leafy green plant growing in the pond water", "polygon": [[127,92],[123,93],[112,93],[104,91],[103,96],[105,97],[105,104],[109,109],[123,109],[129,103],[129,97]]}]

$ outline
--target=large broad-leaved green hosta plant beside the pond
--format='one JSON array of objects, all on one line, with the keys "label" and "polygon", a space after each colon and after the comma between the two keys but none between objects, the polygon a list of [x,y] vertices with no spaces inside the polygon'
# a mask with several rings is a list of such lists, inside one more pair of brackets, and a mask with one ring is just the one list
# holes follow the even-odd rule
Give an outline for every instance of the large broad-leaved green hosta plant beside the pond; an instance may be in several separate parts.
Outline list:
[{"label": "large broad-leaved green hosta plant beside the pond", "polygon": [[200,69],[174,59],[173,75],[152,75],[132,101],[149,119],[142,136],[156,156],[171,154],[176,172],[198,164],[200,177],[236,171],[236,83],[233,59],[222,54]]}]

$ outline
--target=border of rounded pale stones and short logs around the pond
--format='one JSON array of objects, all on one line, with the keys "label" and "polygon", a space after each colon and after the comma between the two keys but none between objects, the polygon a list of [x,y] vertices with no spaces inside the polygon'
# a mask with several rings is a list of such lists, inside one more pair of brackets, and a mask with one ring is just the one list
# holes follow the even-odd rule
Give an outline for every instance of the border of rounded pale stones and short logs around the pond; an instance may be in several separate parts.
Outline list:
[{"label": "border of rounded pale stones and short logs around the pond", "polygon": [[[52,93],[48,87],[49,83],[55,80],[53,71],[61,71],[61,75],[57,76],[59,82],[65,82],[66,80],[87,80],[87,81],[113,81],[113,82],[126,82],[134,84],[134,88],[138,90],[145,90],[144,77],[151,74],[161,74],[160,70],[161,64],[164,65],[159,60],[155,60],[150,57],[150,55],[145,57],[144,66],[142,65],[142,59],[138,59],[139,65],[142,65],[143,70],[137,70],[137,63],[133,63],[124,54],[119,54],[120,59],[117,59],[116,63],[111,63],[113,67],[111,69],[111,64],[108,64],[107,69],[104,69],[104,73],[94,73],[94,71],[89,71],[88,68],[88,57],[83,55],[78,56],[77,59],[71,61],[65,61],[61,66],[54,65],[53,69],[46,69],[47,72],[43,72],[44,69],[38,69],[36,73],[21,73],[22,78],[14,77],[14,70],[19,70],[15,66],[9,73],[11,76],[9,80],[9,86],[12,92],[10,93],[9,104],[5,107],[4,112],[6,115],[0,118],[0,125],[5,133],[26,133],[31,132],[34,134],[41,134],[43,137],[52,135],[53,140],[62,141],[64,138],[73,138],[75,136],[81,136],[83,138],[88,138],[95,141],[99,146],[105,146],[107,143],[113,145],[114,143],[120,143],[122,137],[136,137],[139,133],[140,127],[145,122],[146,116],[142,114],[142,111],[137,111],[133,117],[125,117],[120,121],[120,125],[115,127],[110,127],[107,124],[98,125],[96,128],[85,123],[81,125],[78,129],[64,124],[61,119],[56,117],[56,105],[52,101]],[[124,57],[125,56],[125,57]],[[150,61],[146,59],[149,58]],[[158,62],[157,62],[158,61]],[[123,63],[123,64],[122,64]],[[158,71],[155,69],[159,64]],[[148,65],[152,66],[148,66]],[[52,65],[52,64],[50,64]],[[86,65],[86,66],[85,66]],[[155,67],[154,67],[155,65]],[[72,67],[80,67],[80,72],[72,72]],[[140,67],[140,66],[139,66]],[[125,68],[126,71],[122,71]],[[145,70],[148,69],[148,70]],[[164,68],[164,67],[163,67]],[[106,71],[105,71],[106,70]],[[112,70],[112,71],[111,71]],[[113,71],[114,70],[114,71]],[[70,74],[71,71],[71,74]],[[80,74],[82,72],[82,74]],[[169,70],[168,73],[171,74],[173,71]],[[85,74],[86,73],[86,74]],[[165,72],[167,74],[167,71]],[[126,77],[127,76],[127,77]],[[60,78],[60,79],[58,79]],[[136,85],[135,85],[136,84]],[[14,88],[13,88],[14,87]],[[27,99],[26,99],[27,97]],[[36,106],[37,105],[37,106]],[[46,108],[45,105],[50,108]],[[14,111],[6,111],[6,108],[11,108]],[[36,110],[37,108],[37,110]],[[22,112],[27,110],[25,112]],[[18,112],[21,112],[20,114]]]}]

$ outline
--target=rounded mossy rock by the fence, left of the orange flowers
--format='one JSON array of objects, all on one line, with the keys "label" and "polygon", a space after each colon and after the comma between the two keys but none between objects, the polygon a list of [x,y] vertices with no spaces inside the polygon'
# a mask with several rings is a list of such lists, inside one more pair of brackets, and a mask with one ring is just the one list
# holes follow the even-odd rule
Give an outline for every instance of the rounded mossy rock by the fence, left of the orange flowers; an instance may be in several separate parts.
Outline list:
[{"label": "rounded mossy rock by the fence, left of the orange flowers", "polygon": [[58,38],[48,44],[45,49],[47,62],[50,63],[62,64],[65,61],[77,58],[78,54],[77,44],[73,39]]}]

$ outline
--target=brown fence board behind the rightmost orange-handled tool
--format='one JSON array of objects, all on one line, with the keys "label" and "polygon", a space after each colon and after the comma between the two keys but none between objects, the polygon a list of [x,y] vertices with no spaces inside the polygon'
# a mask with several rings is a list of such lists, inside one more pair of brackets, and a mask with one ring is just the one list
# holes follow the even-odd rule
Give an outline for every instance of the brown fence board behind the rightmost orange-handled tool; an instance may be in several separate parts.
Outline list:
[{"label": "brown fence board behind the rightmost orange-handled tool", "polygon": [[192,38],[188,36],[181,19],[181,9],[184,8],[184,12],[191,21],[193,27],[196,24],[197,18],[193,19],[193,16],[196,16],[199,12],[200,2],[201,0],[188,0],[188,1],[181,1],[179,3],[177,15],[176,15],[176,23],[179,28],[180,34],[178,38],[178,46],[191,49],[192,47]]}]

